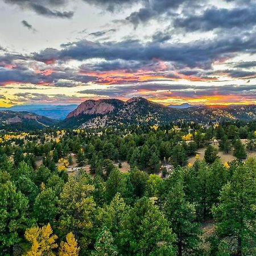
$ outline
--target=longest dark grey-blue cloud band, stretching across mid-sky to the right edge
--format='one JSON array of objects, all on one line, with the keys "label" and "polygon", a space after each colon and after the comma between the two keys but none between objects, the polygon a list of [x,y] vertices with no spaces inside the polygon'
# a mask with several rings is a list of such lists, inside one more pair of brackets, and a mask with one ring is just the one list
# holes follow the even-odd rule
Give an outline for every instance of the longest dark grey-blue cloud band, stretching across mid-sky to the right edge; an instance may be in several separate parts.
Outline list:
[{"label": "longest dark grey-blue cloud band, stretching across mid-sky to the right edge", "polygon": [[226,34],[221,38],[197,40],[189,43],[142,44],[139,40],[121,42],[90,42],[81,40],[63,45],[63,49],[45,49],[32,56],[35,60],[86,60],[104,58],[105,60],[150,61],[160,59],[188,66],[210,68],[213,61],[236,56],[237,53],[255,53],[254,32],[241,32],[239,35]]}]

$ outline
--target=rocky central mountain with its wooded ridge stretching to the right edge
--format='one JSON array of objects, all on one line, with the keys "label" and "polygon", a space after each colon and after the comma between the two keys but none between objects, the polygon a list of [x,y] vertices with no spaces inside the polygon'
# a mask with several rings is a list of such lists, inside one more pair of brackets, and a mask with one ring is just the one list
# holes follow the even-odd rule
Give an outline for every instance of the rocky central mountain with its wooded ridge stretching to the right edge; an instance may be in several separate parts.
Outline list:
[{"label": "rocky central mountain with its wooded ridge stretching to the right edge", "polygon": [[189,106],[170,108],[145,98],[87,100],[67,115],[59,125],[63,127],[105,127],[131,124],[194,121],[199,123],[256,119],[255,105]]}]

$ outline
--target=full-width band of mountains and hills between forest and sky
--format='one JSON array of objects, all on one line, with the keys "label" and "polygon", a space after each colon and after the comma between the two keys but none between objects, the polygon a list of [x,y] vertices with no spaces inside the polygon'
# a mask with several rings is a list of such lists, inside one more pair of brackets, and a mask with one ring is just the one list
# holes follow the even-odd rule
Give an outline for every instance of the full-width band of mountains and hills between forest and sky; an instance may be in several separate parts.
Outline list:
[{"label": "full-width band of mountains and hills between forest and sky", "polygon": [[[24,108],[24,106],[20,106],[20,108]],[[19,110],[18,106],[15,109]],[[110,125],[141,125],[143,123],[152,125],[176,121],[209,123],[240,120],[247,122],[256,119],[256,105],[192,106],[183,104],[173,108],[172,106],[164,106],[142,97],[131,98],[128,101],[114,98],[87,100],[79,106],[42,107],[42,105],[31,105],[26,110],[31,110],[35,114],[0,110],[0,128],[32,130],[43,129],[49,126],[58,128],[86,128]],[[46,112],[44,112],[45,110]],[[48,116],[49,113],[52,113],[51,116],[59,119],[59,121],[37,113],[48,113]]]}]

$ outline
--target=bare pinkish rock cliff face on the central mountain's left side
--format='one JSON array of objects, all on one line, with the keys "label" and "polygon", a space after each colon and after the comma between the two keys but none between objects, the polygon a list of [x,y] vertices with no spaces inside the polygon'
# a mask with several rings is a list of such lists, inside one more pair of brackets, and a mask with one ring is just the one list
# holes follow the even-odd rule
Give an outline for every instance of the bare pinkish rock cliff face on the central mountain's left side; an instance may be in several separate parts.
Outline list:
[{"label": "bare pinkish rock cliff face on the central mountain's left side", "polygon": [[75,110],[68,114],[67,118],[77,117],[81,114],[106,114],[113,112],[115,109],[114,105],[105,102],[104,100],[88,100],[82,102]]}]

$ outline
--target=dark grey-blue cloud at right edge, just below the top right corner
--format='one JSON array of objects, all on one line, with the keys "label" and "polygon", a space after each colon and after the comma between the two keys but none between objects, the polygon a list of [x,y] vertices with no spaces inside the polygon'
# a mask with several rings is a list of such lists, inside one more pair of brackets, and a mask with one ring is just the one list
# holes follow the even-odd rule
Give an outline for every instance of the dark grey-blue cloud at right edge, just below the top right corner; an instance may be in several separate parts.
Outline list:
[{"label": "dark grey-blue cloud at right edge, just below the top right corner", "polygon": [[207,9],[202,15],[191,15],[176,18],[175,27],[183,27],[187,31],[210,31],[214,28],[245,28],[256,24],[256,6],[234,9]]}]

